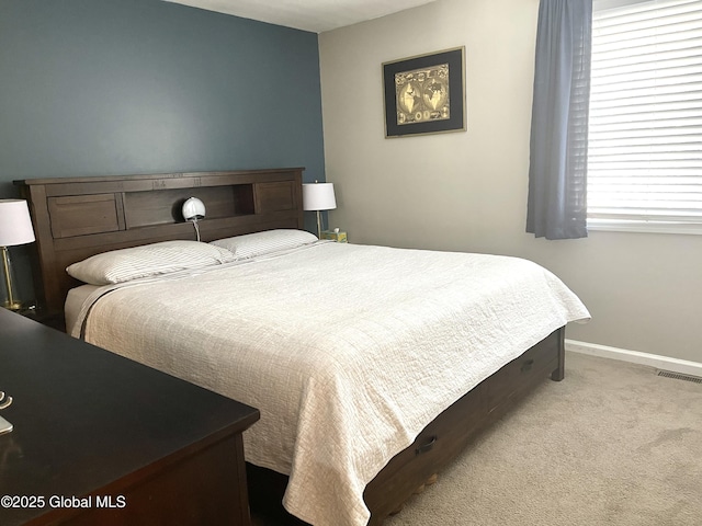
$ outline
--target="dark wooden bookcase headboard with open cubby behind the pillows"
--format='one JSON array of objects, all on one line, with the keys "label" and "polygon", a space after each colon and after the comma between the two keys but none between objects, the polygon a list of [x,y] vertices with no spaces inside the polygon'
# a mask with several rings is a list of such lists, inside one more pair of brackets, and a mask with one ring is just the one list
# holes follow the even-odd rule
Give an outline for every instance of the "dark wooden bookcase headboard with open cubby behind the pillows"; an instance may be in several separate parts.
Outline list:
[{"label": "dark wooden bookcase headboard with open cubby behind the pillows", "polygon": [[303,228],[303,168],[14,181],[29,202],[36,236],[34,286],[41,307],[64,310],[80,285],[71,263],[109,250],[195,239],[181,215],[188,197],[206,207],[202,241]]}]

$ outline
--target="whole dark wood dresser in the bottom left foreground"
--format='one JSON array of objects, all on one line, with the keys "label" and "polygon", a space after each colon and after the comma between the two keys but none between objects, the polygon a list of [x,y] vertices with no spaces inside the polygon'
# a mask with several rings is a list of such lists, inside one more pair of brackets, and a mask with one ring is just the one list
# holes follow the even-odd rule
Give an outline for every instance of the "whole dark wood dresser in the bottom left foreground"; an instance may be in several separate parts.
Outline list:
[{"label": "whole dark wood dresser in the bottom left foreground", "polygon": [[258,410],[0,308],[0,524],[249,525]]}]

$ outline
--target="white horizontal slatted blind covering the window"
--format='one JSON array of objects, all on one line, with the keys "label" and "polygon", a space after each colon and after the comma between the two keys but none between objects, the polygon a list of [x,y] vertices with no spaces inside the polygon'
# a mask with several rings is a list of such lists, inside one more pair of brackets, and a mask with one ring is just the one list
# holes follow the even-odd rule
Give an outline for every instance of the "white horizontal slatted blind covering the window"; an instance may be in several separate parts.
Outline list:
[{"label": "white horizontal slatted blind covering the window", "polygon": [[588,226],[702,233],[702,1],[595,3]]}]

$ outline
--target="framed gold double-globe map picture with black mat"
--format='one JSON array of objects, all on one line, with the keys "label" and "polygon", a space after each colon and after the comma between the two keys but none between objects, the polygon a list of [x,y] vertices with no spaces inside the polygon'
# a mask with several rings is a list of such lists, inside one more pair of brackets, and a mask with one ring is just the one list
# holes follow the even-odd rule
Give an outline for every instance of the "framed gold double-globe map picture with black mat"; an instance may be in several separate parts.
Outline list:
[{"label": "framed gold double-globe map picture with black mat", "polygon": [[465,47],[383,64],[385,137],[465,132]]}]

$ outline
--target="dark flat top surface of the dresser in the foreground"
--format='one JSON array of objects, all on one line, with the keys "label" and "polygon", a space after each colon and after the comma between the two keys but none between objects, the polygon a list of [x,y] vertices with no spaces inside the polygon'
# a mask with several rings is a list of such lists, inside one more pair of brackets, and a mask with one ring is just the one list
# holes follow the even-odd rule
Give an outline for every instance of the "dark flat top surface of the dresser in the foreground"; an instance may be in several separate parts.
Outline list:
[{"label": "dark flat top surface of the dresser in the foreground", "polygon": [[[0,308],[0,495],[101,495],[259,419],[258,410]],[[149,468],[150,469],[150,468]],[[50,511],[0,507],[0,523]]]}]

